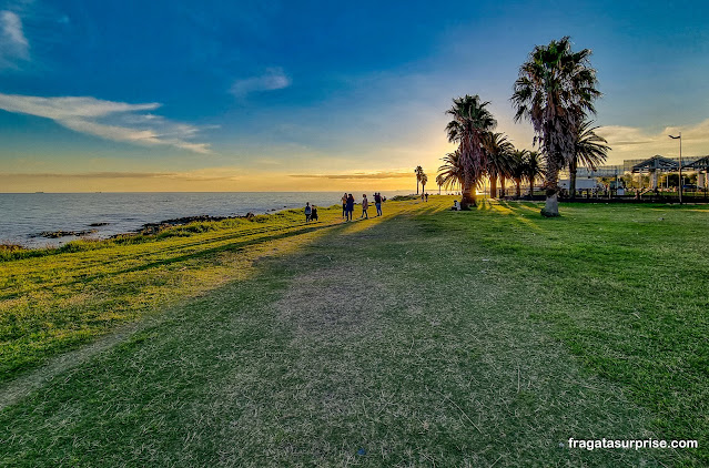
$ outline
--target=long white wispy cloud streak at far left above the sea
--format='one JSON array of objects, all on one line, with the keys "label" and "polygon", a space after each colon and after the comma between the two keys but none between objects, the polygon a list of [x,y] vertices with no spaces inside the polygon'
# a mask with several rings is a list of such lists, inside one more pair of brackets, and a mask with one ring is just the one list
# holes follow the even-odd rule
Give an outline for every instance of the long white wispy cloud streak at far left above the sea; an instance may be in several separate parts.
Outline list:
[{"label": "long white wispy cloud streak at far left above the sea", "polygon": [[210,153],[207,143],[190,141],[201,130],[160,115],[140,113],[160,103],[129,104],[90,96],[39,98],[0,93],[0,109],[51,119],[67,129],[105,140],[141,145],[169,145],[194,153]]}]

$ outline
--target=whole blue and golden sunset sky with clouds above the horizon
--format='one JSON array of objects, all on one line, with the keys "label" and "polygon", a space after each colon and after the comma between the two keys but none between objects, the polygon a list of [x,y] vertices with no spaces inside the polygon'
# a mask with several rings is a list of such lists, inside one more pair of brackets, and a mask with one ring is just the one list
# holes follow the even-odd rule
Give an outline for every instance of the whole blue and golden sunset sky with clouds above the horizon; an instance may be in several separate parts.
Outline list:
[{"label": "whole blue and golden sunset sky with clouds above the horizon", "polygon": [[0,192],[406,190],[452,99],[592,50],[608,163],[709,154],[703,1],[0,0]]}]

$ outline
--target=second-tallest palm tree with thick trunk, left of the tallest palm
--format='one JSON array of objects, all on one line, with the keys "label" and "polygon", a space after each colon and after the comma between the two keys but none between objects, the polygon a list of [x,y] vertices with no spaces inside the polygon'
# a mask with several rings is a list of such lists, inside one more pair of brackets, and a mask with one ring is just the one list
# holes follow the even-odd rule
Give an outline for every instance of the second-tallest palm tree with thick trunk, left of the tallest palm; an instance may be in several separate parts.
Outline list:
[{"label": "second-tallest palm tree with thick trunk, left of the tallest palm", "polygon": [[450,143],[458,143],[460,166],[463,169],[463,196],[460,207],[469,210],[475,206],[475,189],[487,166],[483,135],[495,130],[497,122],[493,114],[485,109],[489,102],[482,102],[476,95],[466,94],[455,98],[453,106],[446,111],[453,120],[446,125],[446,133]]}]

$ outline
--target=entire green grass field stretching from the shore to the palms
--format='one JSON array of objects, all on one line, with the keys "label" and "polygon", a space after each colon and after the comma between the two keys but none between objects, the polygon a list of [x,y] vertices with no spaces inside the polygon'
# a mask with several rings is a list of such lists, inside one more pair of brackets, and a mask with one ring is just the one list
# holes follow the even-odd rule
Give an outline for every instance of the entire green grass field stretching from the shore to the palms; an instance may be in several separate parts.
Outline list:
[{"label": "entire green grass field stretching from the shore to the palms", "polygon": [[709,210],[452,200],[0,263],[0,465],[709,465]]}]

